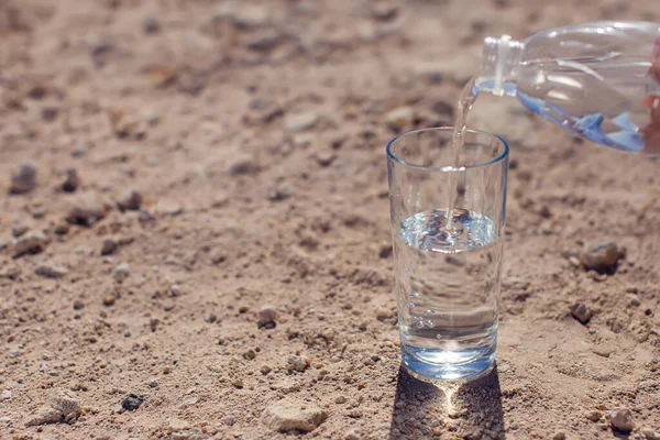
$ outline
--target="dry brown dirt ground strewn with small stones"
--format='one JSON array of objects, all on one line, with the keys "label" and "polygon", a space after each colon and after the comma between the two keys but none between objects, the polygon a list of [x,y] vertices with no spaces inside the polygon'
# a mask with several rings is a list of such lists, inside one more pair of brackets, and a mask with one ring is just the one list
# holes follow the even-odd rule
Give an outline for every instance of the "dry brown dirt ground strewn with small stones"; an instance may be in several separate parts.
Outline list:
[{"label": "dry brown dirt ground strewn with small stones", "polygon": [[660,162],[508,100],[497,369],[399,370],[386,142],[600,19],[660,3],[0,1],[0,438],[660,438]]}]

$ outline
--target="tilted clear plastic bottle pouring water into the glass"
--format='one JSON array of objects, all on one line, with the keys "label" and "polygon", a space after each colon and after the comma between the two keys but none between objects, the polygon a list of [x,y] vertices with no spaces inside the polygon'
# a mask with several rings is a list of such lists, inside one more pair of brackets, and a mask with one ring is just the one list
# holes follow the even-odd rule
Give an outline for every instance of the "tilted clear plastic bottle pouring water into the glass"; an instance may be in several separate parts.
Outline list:
[{"label": "tilted clear plastic bottle pouring water into the glass", "polygon": [[515,96],[593,142],[660,154],[660,24],[597,22],[487,37],[474,94]]}]

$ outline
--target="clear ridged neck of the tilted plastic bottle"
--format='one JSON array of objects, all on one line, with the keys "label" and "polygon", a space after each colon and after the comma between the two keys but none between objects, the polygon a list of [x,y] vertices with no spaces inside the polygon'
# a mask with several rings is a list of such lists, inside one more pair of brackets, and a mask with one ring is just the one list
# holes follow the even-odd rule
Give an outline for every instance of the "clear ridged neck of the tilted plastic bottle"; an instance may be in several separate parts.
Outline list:
[{"label": "clear ridged neck of the tilted plastic bottle", "polygon": [[522,59],[525,44],[508,35],[488,36],[484,40],[484,52],[477,87],[495,96],[512,95],[507,88],[514,80],[514,69]]}]

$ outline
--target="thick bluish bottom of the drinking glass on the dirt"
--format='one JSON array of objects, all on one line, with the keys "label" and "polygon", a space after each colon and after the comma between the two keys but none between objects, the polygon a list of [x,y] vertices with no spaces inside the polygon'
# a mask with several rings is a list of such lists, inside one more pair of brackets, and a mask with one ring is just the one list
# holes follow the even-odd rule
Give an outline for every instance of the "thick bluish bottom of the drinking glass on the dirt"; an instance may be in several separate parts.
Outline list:
[{"label": "thick bluish bottom of the drinking glass on the dirt", "polygon": [[[495,351],[480,353],[479,356],[472,358],[465,363],[429,363],[421,361],[418,356],[409,353],[404,348],[402,358],[404,366],[413,377],[425,382],[442,382],[442,381],[471,381],[487,374],[495,365]],[[464,354],[464,353],[461,353]],[[429,351],[425,350],[425,358],[428,358]],[[439,351],[439,356],[446,358],[447,351]]]}]

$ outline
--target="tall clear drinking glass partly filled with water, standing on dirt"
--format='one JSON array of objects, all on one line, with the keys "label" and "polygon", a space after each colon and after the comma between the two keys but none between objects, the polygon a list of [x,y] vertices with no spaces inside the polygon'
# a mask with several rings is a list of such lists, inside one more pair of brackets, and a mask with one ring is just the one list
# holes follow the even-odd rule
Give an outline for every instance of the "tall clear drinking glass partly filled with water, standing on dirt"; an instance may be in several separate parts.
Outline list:
[{"label": "tall clear drinking glass partly filled with water, standing on dirt", "polygon": [[402,358],[427,381],[480,376],[497,346],[508,145],[468,130],[454,151],[452,133],[387,145]]}]

